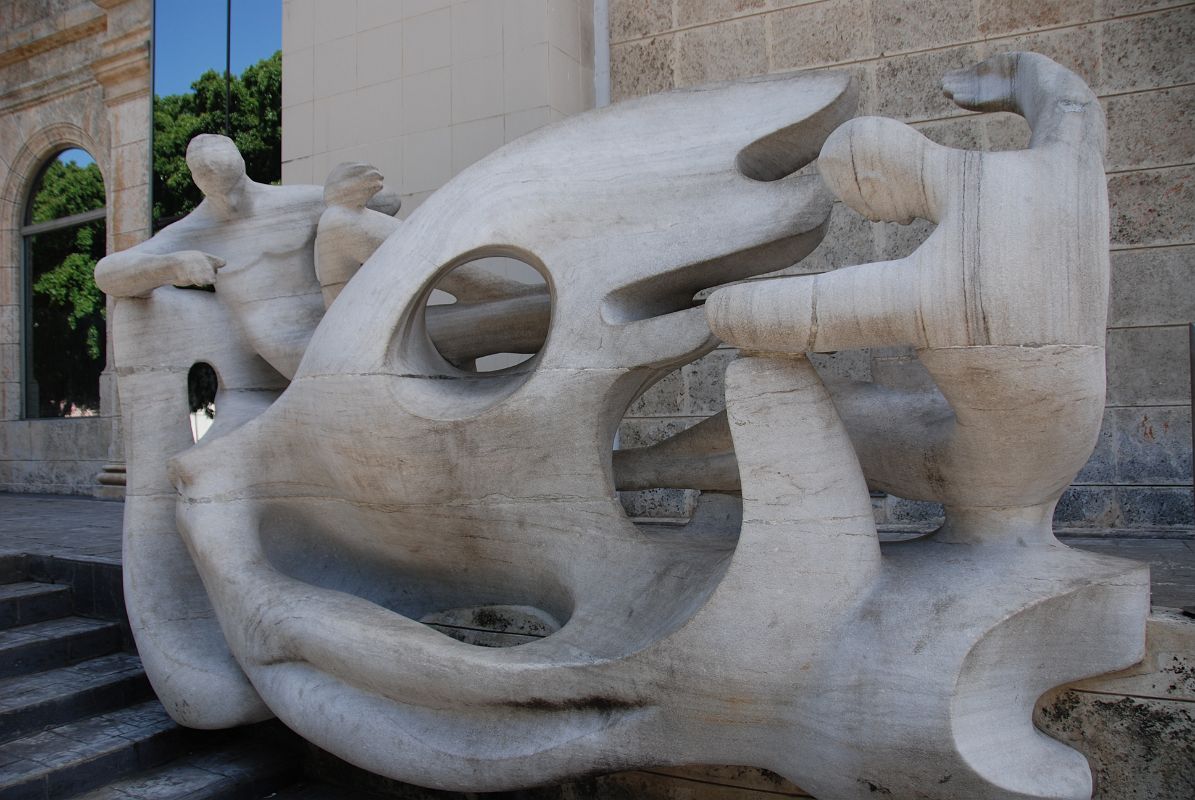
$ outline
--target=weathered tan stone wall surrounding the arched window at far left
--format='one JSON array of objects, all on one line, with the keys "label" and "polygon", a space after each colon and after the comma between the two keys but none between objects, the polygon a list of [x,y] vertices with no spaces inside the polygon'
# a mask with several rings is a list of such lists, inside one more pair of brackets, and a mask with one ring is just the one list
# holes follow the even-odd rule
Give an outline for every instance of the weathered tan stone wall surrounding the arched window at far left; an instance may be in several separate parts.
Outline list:
[{"label": "weathered tan stone wall surrounding the arched window at far left", "polygon": [[20,224],[41,167],[81,147],[104,176],[109,250],[148,234],[151,12],[151,0],[0,1],[0,491],[91,494],[120,452],[109,372],[102,416],[22,419]]}]

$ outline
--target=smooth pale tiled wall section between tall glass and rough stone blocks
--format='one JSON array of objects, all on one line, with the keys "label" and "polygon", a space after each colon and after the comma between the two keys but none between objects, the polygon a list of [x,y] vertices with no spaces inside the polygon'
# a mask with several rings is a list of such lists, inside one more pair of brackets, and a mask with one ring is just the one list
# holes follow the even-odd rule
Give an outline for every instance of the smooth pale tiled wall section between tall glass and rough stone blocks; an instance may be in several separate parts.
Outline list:
[{"label": "smooth pale tiled wall section between tall glass and rough stone blocks", "polygon": [[378,166],[404,214],[456,172],[593,106],[588,0],[283,0],[282,181]]}]

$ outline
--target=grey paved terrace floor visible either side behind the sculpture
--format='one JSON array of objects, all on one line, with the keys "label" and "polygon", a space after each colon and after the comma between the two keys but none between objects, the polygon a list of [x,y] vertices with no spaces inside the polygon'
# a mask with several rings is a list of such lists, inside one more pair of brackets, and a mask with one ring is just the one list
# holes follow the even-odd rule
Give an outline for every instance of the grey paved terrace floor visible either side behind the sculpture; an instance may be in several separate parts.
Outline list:
[{"label": "grey paved terrace floor visible either side behind the sculpture", "polygon": [[[121,562],[124,503],[91,497],[0,493],[0,554],[32,552],[103,563]],[[1150,538],[1141,532],[1066,536],[1066,544],[1110,556],[1146,561],[1153,605],[1195,605],[1195,538]]]}]

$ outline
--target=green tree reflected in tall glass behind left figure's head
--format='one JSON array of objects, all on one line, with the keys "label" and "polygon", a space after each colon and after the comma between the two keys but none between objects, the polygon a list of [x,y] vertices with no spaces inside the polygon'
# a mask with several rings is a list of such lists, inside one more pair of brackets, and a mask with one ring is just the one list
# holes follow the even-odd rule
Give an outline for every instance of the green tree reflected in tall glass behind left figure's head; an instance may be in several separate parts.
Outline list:
[{"label": "green tree reflected in tall glass behind left figure's head", "polygon": [[[190,92],[154,98],[154,225],[173,221],[203,196],[186,169],[186,145],[201,133],[225,134],[223,75],[208,69]],[[231,81],[227,135],[245,158],[249,177],[261,183],[282,178],[282,53],[246,67]]]}]

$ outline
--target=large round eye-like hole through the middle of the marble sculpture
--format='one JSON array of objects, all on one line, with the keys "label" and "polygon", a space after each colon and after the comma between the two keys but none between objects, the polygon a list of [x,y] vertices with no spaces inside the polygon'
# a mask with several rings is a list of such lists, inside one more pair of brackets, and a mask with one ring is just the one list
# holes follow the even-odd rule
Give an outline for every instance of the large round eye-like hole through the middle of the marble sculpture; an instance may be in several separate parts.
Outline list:
[{"label": "large round eye-like hole through the middle of the marble sculpture", "polygon": [[516,367],[544,347],[552,300],[547,281],[509,256],[476,258],[445,274],[427,304],[433,346],[465,372]]}]

